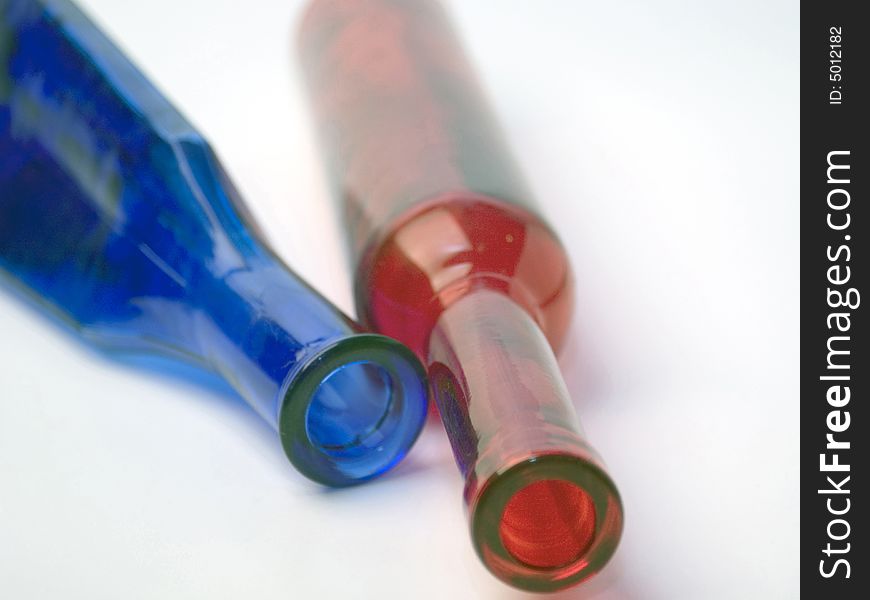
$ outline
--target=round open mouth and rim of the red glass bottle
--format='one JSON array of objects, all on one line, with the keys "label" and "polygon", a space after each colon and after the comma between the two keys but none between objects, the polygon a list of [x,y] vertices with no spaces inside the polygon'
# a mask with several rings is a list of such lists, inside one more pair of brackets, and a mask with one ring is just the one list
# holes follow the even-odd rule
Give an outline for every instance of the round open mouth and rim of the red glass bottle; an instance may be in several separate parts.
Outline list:
[{"label": "round open mouth and rim of the red glass bottle", "polygon": [[483,483],[471,533],[487,568],[529,591],[570,587],[597,573],[622,533],[610,478],[574,455],[530,457]]}]

